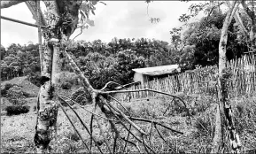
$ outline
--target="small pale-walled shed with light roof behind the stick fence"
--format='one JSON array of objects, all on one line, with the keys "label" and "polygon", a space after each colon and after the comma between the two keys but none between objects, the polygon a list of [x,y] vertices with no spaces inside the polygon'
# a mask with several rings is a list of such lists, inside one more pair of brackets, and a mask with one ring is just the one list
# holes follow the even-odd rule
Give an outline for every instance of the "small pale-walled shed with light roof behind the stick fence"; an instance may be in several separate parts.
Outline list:
[{"label": "small pale-walled shed with light roof behind the stick fence", "polygon": [[141,81],[143,84],[146,81],[151,81],[153,78],[162,78],[170,74],[180,73],[179,65],[160,65],[155,67],[136,68],[133,69],[134,81]]}]

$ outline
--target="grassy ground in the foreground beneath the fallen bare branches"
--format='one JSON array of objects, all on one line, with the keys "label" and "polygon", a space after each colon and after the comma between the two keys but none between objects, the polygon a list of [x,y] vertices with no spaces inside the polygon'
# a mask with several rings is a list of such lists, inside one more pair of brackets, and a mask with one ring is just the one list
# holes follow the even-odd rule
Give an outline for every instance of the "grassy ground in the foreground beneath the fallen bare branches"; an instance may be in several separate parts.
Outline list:
[{"label": "grassy ground in the foreground beneath the fallen bare branches", "polygon": [[[196,114],[192,116],[192,125],[188,117],[183,116],[184,111],[175,110],[175,106],[171,106],[170,110],[163,116],[163,112],[166,110],[167,105],[171,102],[169,98],[163,97],[158,99],[132,101],[131,103],[124,103],[128,111],[132,116],[155,119],[164,122],[167,126],[176,130],[182,131],[184,135],[176,135],[173,132],[168,131],[166,128],[158,127],[159,132],[164,136],[168,142],[164,144],[164,141],[159,137],[155,128],[152,128],[153,133],[151,135],[151,147],[160,152],[204,152],[208,153],[212,147],[213,135],[214,135],[214,112],[215,102],[211,96],[188,96],[185,98],[190,107],[190,111],[193,109]],[[36,98],[29,98],[27,101],[30,107],[30,112],[27,114],[14,115],[11,117],[1,116],[1,151],[23,151],[23,152],[35,152],[34,148],[34,135],[35,135],[35,120],[36,111],[32,106],[36,105]],[[256,98],[255,97],[240,97],[231,99],[232,109],[235,116],[235,123],[238,133],[243,143],[243,149],[255,149],[256,147]],[[87,109],[92,111],[93,104],[86,105]],[[120,109],[121,107],[118,106]],[[89,125],[90,113],[85,112],[81,108],[75,108],[76,112],[81,115],[83,121]],[[81,127],[79,120],[74,116],[74,113],[66,107],[66,112],[71,116],[74,121],[74,125],[78,127],[79,131],[85,142],[89,144],[89,135],[84,128]],[[141,127],[145,132],[151,131],[151,123],[144,123],[136,121],[136,124]],[[128,125],[127,125],[128,126]],[[120,130],[120,135],[127,135],[127,132],[117,124]],[[134,128],[132,132],[136,133]],[[99,137],[99,129],[97,122],[93,122],[93,134]],[[135,140],[130,138],[131,141]],[[111,139],[109,142],[111,143]],[[112,143],[111,143],[112,145]],[[120,149],[123,148],[122,142],[117,142],[120,145]],[[50,142],[52,150],[56,153],[69,153],[69,152],[86,152],[87,150],[82,145],[81,140],[75,133],[74,128],[70,125],[64,112],[59,110],[58,112],[58,139],[53,139]],[[107,152],[105,143],[101,145],[103,151]],[[141,150],[144,152],[142,146]],[[117,149],[118,150],[118,149]],[[93,151],[97,151],[94,146]],[[136,152],[134,146],[128,145],[128,152]]]}]

